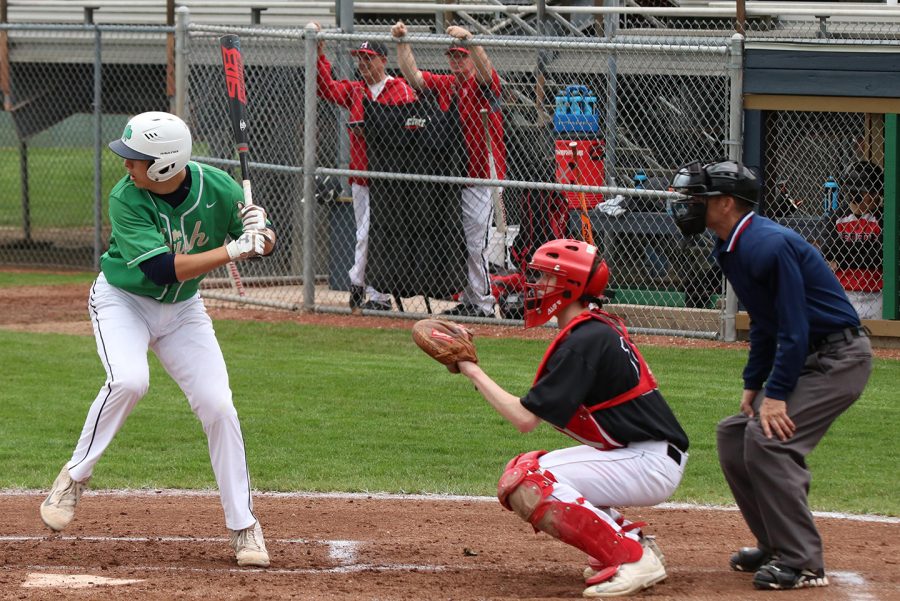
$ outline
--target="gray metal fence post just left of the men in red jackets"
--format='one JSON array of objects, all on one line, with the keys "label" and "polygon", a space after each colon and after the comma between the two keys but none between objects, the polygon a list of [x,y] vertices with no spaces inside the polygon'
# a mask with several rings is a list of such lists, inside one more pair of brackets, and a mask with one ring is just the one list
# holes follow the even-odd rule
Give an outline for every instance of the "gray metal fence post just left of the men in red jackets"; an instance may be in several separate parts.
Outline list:
[{"label": "gray metal fence post just left of the men in red jackets", "polygon": [[[316,300],[316,28],[305,30],[303,95],[303,308],[312,309]],[[296,213],[296,211],[295,211]],[[295,224],[296,225],[296,224]],[[295,227],[294,231],[299,228]]]}]

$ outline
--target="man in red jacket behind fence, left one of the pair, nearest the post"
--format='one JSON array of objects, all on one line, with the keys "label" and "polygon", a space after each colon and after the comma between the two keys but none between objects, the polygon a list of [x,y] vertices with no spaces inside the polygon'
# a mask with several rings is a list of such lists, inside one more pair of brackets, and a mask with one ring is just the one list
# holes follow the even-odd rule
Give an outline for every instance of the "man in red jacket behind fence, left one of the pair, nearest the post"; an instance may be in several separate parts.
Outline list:
[{"label": "man in red jacket behind fence, left one of the pair, nearest the post", "polygon": [[[313,24],[320,29],[318,23]],[[366,171],[366,140],[362,128],[363,99],[382,104],[406,104],[416,100],[415,91],[405,80],[385,73],[387,49],[381,42],[365,41],[350,54],[356,58],[356,68],[361,80],[340,79],[331,76],[331,63],[325,58],[325,42],[319,42],[316,89],[319,98],[350,110],[347,127],[350,132],[350,169]],[[356,218],[356,250],[350,269],[350,308],[390,311],[391,298],[365,285],[366,256],[369,245],[369,183],[365,178],[351,177],[353,214]],[[368,294],[369,300],[365,301]]]}]

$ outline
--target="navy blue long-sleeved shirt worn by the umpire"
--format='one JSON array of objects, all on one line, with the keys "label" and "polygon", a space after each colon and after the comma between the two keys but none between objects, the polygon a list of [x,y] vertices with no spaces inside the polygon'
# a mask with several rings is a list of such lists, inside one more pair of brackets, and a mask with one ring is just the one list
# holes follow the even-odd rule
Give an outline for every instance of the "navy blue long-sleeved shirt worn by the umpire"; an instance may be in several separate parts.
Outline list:
[{"label": "navy blue long-sleeved shirt worn by the umpire", "polygon": [[747,390],[765,384],[767,397],[787,399],[810,343],[860,326],[822,253],[771,219],[747,213],[716,242],[713,256],[750,314]]}]

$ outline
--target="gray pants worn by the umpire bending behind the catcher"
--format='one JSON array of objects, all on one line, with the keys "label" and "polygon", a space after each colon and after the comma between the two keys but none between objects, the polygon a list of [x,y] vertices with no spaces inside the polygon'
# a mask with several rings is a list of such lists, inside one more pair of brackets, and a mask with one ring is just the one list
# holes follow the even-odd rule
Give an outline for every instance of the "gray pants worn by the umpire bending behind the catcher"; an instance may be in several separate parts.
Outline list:
[{"label": "gray pants worn by the umpire bending behind the catcher", "polygon": [[822,538],[807,504],[808,455],[837,417],[862,394],[872,371],[865,337],[827,344],[806,358],[787,399],[796,430],[786,441],[766,438],[759,423],[764,393],[753,401],[754,417],[728,417],[716,428],[719,464],[757,546],[798,569],[824,568]]}]

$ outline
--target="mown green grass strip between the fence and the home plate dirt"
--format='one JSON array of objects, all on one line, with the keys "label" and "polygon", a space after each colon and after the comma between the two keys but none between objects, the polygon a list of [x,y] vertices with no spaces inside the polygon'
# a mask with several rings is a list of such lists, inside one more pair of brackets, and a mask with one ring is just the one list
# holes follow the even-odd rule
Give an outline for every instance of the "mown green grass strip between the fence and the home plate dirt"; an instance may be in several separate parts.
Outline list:
[{"label": "mown green grass strip between the fence and the home plate dirt", "polygon": [[[253,484],[262,490],[491,495],[503,465],[573,441],[522,435],[406,330],[219,321]],[[479,341],[485,370],[515,394],[545,343]],[[737,410],[745,352],[645,347],[691,438],[674,501],[731,503],[714,429]],[[46,488],[69,457],[103,371],[90,337],[0,331],[0,488]],[[900,362],[876,361],[860,401],[809,457],[815,509],[900,515],[894,401]],[[205,440],[155,358],[151,385],[94,474],[98,488],[213,488]]]}]

